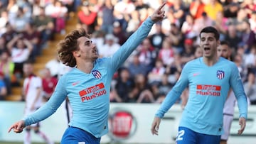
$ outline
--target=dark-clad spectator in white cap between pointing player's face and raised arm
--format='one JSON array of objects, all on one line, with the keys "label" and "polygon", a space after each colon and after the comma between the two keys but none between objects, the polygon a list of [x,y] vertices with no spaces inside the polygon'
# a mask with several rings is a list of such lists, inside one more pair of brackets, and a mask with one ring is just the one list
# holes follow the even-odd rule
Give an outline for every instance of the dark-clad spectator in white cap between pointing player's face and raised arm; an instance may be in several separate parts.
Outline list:
[{"label": "dark-clad spectator in white cap between pointing player's face and raised arm", "polygon": [[114,21],[113,23],[113,35],[119,38],[118,43],[119,45],[124,44],[127,40],[127,33],[122,30],[122,23],[120,21]]}]

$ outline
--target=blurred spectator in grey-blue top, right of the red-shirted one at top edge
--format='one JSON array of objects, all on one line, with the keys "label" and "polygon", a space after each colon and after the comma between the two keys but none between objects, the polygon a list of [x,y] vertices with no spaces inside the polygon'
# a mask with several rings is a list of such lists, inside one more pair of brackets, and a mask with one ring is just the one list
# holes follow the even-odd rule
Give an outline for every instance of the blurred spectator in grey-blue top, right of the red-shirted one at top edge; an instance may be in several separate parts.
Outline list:
[{"label": "blurred spectator in grey-blue top, right of the red-shirted one at top edge", "polygon": [[106,0],[105,5],[102,6],[102,26],[101,29],[105,33],[112,33],[114,23],[114,6],[112,0]]}]

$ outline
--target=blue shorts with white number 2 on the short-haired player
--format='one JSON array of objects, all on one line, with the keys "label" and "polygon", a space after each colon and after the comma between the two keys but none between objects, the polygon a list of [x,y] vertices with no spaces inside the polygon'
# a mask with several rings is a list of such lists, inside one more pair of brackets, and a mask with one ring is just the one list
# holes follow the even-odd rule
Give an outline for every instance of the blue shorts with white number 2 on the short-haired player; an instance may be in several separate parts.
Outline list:
[{"label": "blue shorts with white number 2 on the short-haired player", "polygon": [[177,144],[216,144],[220,143],[220,135],[197,133],[189,128],[178,127]]}]

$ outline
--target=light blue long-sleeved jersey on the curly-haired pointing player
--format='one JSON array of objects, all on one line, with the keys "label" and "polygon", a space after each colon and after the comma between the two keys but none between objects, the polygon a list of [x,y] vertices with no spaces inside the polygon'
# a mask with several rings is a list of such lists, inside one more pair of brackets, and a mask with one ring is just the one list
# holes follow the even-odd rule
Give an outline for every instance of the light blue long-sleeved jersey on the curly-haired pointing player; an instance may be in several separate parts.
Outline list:
[{"label": "light blue long-sleeved jersey on the curly-haired pointing player", "polygon": [[110,84],[113,74],[146,38],[153,24],[151,18],[147,18],[112,57],[98,58],[90,74],[74,68],[60,77],[50,100],[36,113],[23,118],[26,126],[48,118],[68,96],[73,109],[69,126],[81,128],[97,138],[105,135],[108,132]]}]

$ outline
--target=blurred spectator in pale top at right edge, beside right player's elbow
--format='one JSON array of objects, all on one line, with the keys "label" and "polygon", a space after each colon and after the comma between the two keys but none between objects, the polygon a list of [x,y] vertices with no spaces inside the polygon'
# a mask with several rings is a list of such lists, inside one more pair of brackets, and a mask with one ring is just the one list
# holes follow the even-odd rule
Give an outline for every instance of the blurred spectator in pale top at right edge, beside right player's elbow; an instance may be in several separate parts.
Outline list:
[{"label": "blurred spectator in pale top at right edge, beside right player's elbow", "polygon": [[247,81],[244,83],[245,94],[250,99],[250,104],[256,104],[256,83],[255,83],[255,73],[249,72],[247,76]]}]

